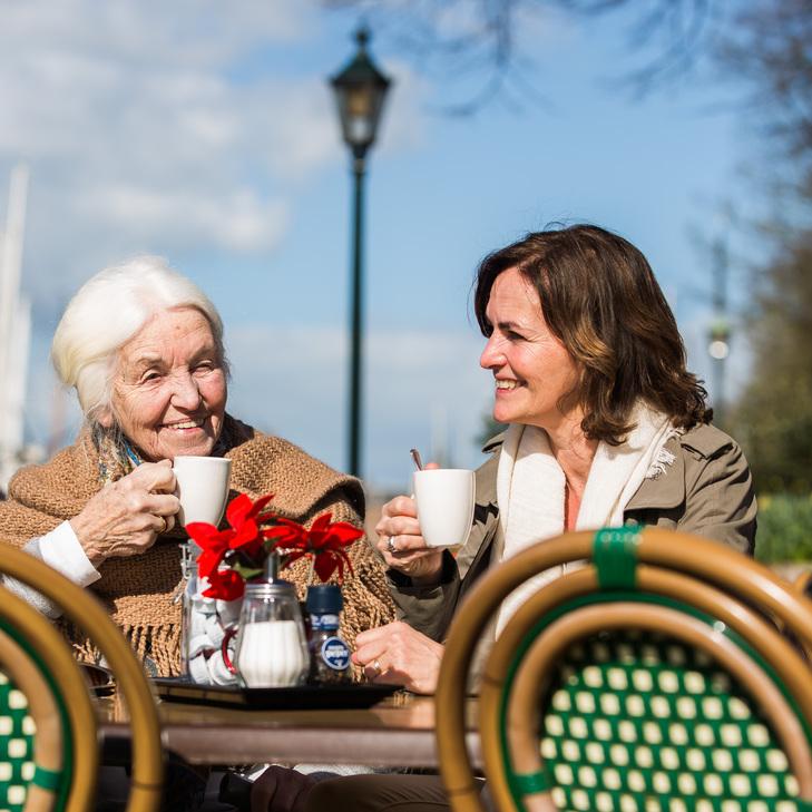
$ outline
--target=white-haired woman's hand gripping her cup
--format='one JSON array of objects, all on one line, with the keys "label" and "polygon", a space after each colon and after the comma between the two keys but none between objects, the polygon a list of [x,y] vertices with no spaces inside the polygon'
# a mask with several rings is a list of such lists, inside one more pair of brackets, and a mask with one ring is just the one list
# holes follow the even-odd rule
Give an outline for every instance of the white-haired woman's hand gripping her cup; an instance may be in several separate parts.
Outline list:
[{"label": "white-haired woman's hand gripping her cup", "polygon": [[179,507],[174,490],[172,461],[162,460],[143,462],[90,499],[70,525],[94,567],[107,558],[138,556],[170,530]]}]

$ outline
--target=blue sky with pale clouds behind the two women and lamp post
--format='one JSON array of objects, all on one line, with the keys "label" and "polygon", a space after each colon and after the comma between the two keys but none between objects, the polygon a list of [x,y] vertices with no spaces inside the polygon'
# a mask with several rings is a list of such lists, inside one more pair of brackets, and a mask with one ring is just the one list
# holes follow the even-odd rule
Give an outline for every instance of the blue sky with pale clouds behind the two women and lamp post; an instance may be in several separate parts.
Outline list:
[{"label": "blue sky with pale clouds behind the two women and lamp post", "polygon": [[[0,188],[18,160],[31,170],[30,439],[53,433],[48,342],[69,295],[109,263],[156,253],[222,312],[231,411],[345,466],[351,186],[325,77],[351,56],[356,19],[295,0],[102,8],[0,0]],[[595,222],[637,244],[692,366],[710,376],[710,260],[695,231],[713,236],[720,203],[745,195],[752,145],[698,82],[642,101],[610,86],[634,66],[622,22],[528,21],[527,77],[545,104],[497,101],[468,118],[438,108],[473,78],[422,75],[392,32],[373,38],[395,81],[368,185],[373,488],[405,487],[412,446],[481,459],[473,436],[491,383],[478,366],[473,270],[550,221]],[[740,299],[742,274],[732,268]],[[741,378],[746,353],[733,349]],[[77,414],[67,411],[66,441]]]}]

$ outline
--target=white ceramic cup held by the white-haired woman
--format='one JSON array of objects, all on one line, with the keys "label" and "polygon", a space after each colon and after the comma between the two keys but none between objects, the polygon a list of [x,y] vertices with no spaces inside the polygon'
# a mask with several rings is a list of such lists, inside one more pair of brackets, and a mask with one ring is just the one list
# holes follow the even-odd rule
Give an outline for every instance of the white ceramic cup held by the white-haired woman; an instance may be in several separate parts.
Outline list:
[{"label": "white ceramic cup held by the white-haired woman", "polygon": [[180,500],[178,525],[206,521],[217,526],[228,500],[232,461],[225,457],[176,457],[172,467]]}]

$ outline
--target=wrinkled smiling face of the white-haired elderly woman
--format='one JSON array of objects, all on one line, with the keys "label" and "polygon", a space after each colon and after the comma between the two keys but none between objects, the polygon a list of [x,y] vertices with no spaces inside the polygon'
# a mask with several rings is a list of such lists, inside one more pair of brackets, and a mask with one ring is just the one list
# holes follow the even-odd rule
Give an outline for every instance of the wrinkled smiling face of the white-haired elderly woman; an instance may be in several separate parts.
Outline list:
[{"label": "wrinkled smiling face of the white-haired elderly woman", "polygon": [[[112,412],[150,462],[211,454],[226,397],[212,327],[193,307],[157,313],[119,350]],[[110,415],[104,422],[109,424]]]}]

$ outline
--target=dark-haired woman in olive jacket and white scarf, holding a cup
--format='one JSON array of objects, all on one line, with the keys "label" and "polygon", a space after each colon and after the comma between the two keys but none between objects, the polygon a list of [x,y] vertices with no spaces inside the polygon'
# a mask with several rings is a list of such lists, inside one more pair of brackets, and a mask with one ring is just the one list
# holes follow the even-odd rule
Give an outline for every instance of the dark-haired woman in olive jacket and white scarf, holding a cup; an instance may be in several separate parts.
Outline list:
[{"label": "dark-haired woman in olive jacket and white scarf, holding a cup", "polygon": [[[460,598],[488,567],[565,530],[653,525],[752,552],[755,498],[738,446],[710,424],[674,315],[640,252],[601,228],[529,234],[490,254],[475,309],[509,427],[477,471],[470,536],[456,558],[427,548],[414,501],[378,524],[401,622],[358,637],[370,678],[431,693]],[[558,575],[544,573],[538,589]],[[497,629],[525,599],[516,590]],[[439,779],[353,776],[319,784],[307,810],[447,808]]]}]

